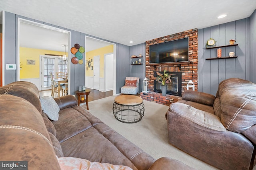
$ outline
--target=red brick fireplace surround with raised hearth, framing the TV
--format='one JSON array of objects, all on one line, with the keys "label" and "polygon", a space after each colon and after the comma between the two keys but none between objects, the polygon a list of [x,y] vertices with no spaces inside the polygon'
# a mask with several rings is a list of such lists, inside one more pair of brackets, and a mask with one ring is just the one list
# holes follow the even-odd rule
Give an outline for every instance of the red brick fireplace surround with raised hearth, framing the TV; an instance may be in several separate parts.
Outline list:
[{"label": "red brick fireplace surround with raised hearth, framing the TV", "polygon": [[[189,62],[182,63],[161,63],[161,64],[149,64],[149,46],[157,43],[163,43],[166,41],[172,41],[188,37],[188,55]],[[197,91],[198,85],[198,29],[190,29],[180,33],[167,35],[157,39],[146,41],[146,78],[148,78],[148,93],[140,93],[140,97],[143,100],[156,102],[169,106],[171,103],[177,102],[181,99],[180,95],[162,96],[160,92],[154,92],[154,77],[155,72],[181,72],[181,92],[187,88],[189,80],[192,80],[195,84],[195,90]]]}]

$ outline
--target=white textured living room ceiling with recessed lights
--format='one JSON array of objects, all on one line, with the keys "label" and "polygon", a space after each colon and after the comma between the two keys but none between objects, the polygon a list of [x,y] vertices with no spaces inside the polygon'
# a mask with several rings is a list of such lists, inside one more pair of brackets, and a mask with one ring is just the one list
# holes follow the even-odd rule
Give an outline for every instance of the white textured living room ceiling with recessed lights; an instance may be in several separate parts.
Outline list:
[{"label": "white textured living room ceiling with recessed lights", "polygon": [[[0,12],[4,10],[128,46],[247,18],[255,9],[256,0],[0,0]],[[217,19],[220,14],[228,16]],[[54,41],[55,35],[42,35],[49,44]],[[62,39],[61,35],[58,39]]]}]

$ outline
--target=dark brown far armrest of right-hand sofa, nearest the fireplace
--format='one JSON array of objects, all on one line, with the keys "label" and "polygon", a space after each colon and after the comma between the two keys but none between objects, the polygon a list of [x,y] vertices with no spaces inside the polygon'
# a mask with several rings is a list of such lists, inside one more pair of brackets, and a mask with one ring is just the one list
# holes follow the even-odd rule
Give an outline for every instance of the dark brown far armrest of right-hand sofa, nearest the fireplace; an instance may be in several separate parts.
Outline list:
[{"label": "dark brown far armrest of right-hand sofa, nearest the fireplace", "polygon": [[197,102],[208,106],[213,106],[215,99],[216,97],[212,94],[196,92],[193,90],[185,90],[182,94],[182,100]]}]

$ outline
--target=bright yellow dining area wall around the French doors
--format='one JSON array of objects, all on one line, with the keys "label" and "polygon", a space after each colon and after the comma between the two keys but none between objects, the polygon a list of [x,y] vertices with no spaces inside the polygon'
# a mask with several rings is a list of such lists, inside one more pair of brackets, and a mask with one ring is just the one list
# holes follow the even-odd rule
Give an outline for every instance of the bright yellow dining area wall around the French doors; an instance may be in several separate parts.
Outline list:
[{"label": "bright yellow dining area wall around the French doors", "polygon": [[[64,55],[65,53],[61,51],[20,47],[20,64],[22,64],[22,70],[20,70],[20,79],[39,78],[40,55],[44,54]],[[35,65],[28,65],[27,60],[35,60]]]}]

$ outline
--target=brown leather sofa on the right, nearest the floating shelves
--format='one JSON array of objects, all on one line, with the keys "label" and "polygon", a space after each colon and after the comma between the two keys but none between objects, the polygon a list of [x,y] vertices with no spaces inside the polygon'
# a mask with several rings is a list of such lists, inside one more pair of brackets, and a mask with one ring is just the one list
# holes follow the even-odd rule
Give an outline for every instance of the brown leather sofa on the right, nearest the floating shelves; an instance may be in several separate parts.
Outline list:
[{"label": "brown leather sofa on the right, nearest the floating shelves", "polygon": [[222,81],[216,96],[186,90],[166,113],[171,145],[223,170],[256,165],[256,84]]}]

